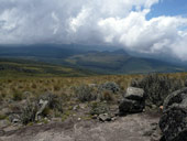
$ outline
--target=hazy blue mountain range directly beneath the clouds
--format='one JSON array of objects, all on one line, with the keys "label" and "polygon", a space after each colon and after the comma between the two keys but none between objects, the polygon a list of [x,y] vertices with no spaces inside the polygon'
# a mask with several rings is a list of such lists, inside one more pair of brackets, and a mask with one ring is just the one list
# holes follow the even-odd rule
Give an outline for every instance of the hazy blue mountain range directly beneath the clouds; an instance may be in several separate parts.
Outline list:
[{"label": "hazy blue mountain range directly beneath the clouds", "polygon": [[182,65],[153,58],[135,57],[128,54],[124,50],[111,50],[110,47],[77,44],[1,45],[0,57],[43,62],[99,74],[144,74],[187,70]]}]

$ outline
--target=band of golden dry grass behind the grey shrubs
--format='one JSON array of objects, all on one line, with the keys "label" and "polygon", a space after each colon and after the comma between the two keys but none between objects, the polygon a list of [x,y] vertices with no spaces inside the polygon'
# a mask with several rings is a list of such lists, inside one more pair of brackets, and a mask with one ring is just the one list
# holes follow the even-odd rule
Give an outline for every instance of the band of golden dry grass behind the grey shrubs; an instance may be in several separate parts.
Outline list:
[{"label": "band of golden dry grass behind the grey shrubs", "polygon": [[[162,74],[163,75],[163,74]],[[173,78],[186,79],[187,73],[166,74]],[[102,84],[106,82],[117,83],[122,90],[125,90],[134,78],[142,78],[143,75],[108,75],[91,77],[23,77],[23,78],[3,78],[0,79],[0,96],[13,97],[13,94],[23,94],[30,91],[40,95],[45,91],[53,94],[73,94],[73,88],[80,85]]]}]

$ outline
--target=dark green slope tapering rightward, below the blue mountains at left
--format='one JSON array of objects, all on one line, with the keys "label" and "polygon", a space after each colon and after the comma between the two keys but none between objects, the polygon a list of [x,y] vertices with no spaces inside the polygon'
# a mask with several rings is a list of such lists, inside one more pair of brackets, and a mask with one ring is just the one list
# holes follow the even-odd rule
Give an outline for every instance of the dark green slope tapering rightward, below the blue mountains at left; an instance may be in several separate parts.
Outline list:
[{"label": "dark green slope tapering rightward, below the blue mountains at left", "polygon": [[0,77],[90,75],[96,75],[96,73],[80,68],[63,67],[28,59],[0,58]]}]

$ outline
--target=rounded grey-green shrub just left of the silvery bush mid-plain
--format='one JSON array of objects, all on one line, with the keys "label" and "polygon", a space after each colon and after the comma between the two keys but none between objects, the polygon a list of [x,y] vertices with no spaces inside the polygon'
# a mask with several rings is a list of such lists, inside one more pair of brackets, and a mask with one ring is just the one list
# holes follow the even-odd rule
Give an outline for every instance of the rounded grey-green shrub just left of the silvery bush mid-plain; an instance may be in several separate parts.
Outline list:
[{"label": "rounded grey-green shrub just left of the silvery bush mid-plain", "polygon": [[76,97],[81,101],[91,101],[97,99],[97,93],[94,87],[81,85],[75,88]]}]

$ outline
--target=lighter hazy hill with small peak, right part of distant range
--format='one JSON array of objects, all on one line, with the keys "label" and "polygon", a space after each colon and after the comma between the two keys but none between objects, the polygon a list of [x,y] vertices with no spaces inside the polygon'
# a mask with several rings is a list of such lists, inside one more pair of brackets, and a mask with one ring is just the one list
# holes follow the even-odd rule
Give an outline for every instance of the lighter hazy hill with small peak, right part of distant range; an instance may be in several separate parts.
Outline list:
[{"label": "lighter hazy hill with small peak, right part of distant range", "polygon": [[125,52],[92,52],[81,55],[74,55],[66,58],[66,62],[108,74],[136,74],[136,73],[170,73],[185,72],[186,69],[157,59],[140,58],[128,55]]}]

